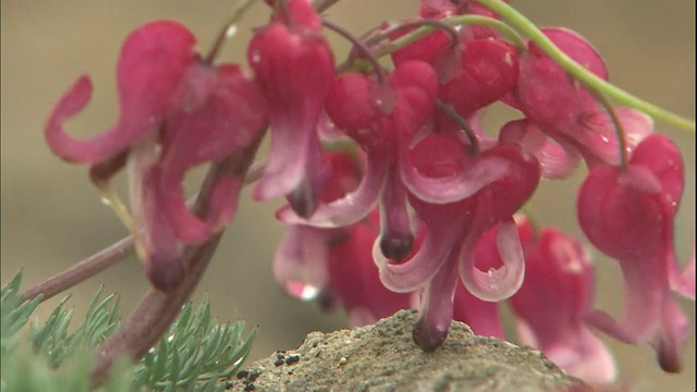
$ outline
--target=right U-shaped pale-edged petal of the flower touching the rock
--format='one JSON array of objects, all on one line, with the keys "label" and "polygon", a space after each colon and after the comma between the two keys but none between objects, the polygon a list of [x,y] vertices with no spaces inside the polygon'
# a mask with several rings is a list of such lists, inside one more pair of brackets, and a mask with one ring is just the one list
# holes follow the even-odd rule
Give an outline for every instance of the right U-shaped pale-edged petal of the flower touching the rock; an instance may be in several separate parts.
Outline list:
[{"label": "right U-shaped pale-edged petal of the flower touching the rock", "polygon": [[474,243],[468,240],[460,255],[460,277],[465,287],[479,299],[489,302],[503,301],[515,294],[525,277],[525,258],[513,218],[501,223],[497,232],[497,248],[503,267],[491,268],[488,272],[477,269]]}]

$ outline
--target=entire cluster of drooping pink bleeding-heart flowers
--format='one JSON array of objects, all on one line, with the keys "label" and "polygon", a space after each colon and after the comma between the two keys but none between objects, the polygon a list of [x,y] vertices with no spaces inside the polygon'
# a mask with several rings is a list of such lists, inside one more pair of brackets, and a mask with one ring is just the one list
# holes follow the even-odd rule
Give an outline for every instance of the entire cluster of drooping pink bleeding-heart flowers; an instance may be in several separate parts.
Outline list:
[{"label": "entire cluster of drooping pink bleeding-heart flowers", "polygon": [[[175,287],[184,247],[234,215],[241,177],[215,184],[201,220],[185,204],[186,171],[239,154],[268,126],[271,150],[254,197],[289,201],[277,213],[291,228],[274,273],[292,295],[341,304],[356,324],[416,306],[414,339],[426,351],[443,342],[453,319],[503,338],[497,303],[509,299],[521,340],[588,381],[614,377],[591,328],[651,344],[665,370],[680,369],[688,327],[673,293],[695,296],[694,260],[681,271],[673,248],[684,168],[650,118],[609,109],[537,45],[516,47],[489,27],[443,26],[393,50],[393,70],[370,61],[384,40],[424,21],[496,17],[475,2],[424,0],[419,19],[375,29],[363,41],[368,53],[351,53],[350,65],[371,65],[343,73],[308,0],[271,3],[270,23],[248,46],[254,75],[210,64],[185,27],[154,22],[123,46],[113,127],[89,140],[63,131],[90,97],[86,76],[49,119],[51,149],[90,164],[96,182],[127,167],[135,230],[156,287]],[[543,33],[607,79],[583,37]],[[485,133],[479,120],[496,102],[521,118]],[[353,147],[325,148],[338,139]],[[517,215],[540,180],[567,177],[582,161],[589,173],[578,221],[622,267],[620,321],[592,308],[594,269],[582,243]]]}]

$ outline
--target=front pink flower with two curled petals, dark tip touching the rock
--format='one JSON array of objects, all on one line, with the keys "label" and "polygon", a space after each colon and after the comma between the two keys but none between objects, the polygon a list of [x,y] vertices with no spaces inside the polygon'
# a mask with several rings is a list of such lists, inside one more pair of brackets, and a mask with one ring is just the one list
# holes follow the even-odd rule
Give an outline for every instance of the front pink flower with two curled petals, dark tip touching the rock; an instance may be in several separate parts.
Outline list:
[{"label": "front pink flower with two curled petals, dark tip touching the rock", "polygon": [[[458,280],[476,297],[497,302],[519,287],[524,260],[512,216],[531,196],[539,164],[516,145],[499,145],[472,157],[452,134],[429,134],[405,158],[409,203],[426,225],[426,238],[411,258],[393,262],[375,252],[382,282],[396,292],[426,287],[415,339],[424,350],[444,340]],[[492,225],[504,265],[477,267],[475,245]],[[491,267],[491,266],[488,266]]]}]

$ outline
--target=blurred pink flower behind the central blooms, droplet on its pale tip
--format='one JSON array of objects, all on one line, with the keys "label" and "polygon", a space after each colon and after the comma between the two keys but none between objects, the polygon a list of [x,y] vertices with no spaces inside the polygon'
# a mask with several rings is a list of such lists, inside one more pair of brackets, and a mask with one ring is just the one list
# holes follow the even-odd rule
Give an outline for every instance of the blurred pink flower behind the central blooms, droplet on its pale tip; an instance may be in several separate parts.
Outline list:
[{"label": "blurred pink flower behind the central blooms, droplet on its pale tip", "polygon": [[[360,174],[356,160],[345,152],[330,152],[328,160],[331,175],[323,188],[323,203],[353,192]],[[409,295],[386,289],[372,262],[379,229],[377,211],[343,228],[293,224],[273,260],[276,279],[295,297],[307,301],[319,296],[326,307],[342,306],[353,326],[409,308]]]}]

